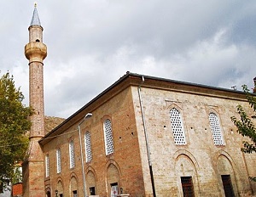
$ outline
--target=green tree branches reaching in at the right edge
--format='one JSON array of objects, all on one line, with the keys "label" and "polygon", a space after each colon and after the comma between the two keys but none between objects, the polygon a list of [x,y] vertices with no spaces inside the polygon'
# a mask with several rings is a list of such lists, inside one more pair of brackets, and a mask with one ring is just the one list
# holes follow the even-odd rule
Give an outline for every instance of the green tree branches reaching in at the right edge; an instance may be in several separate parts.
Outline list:
[{"label": "green tree branches reaching in at the right edge", "polygon": [[[251,116],[247,115],[247,112],[243,110],[241,105],[238,105],[236,110],[240,115],[241,120],[237,120],[235,116],[232,116],[231,121],[234,122],[234,124],[237,127],[237,132],[240,133],[241,136],[251,139],[251,142],[248,142],[248,141],[242,142],[243,148],[241,148],[241,151],[247,154],[252,154],[252,153],[256,153],[256,127],[253,124],[253,121],[251,119],[251,118],[256,118],[256,97],[253,96],[252,93],[250,93],[246,85],[243,85],[242,89],[246,94],[248,103],[253,109],[254,115],[251,115]],[[249,177],[249,178],[254,182],[256,182],[256,177]]]}]

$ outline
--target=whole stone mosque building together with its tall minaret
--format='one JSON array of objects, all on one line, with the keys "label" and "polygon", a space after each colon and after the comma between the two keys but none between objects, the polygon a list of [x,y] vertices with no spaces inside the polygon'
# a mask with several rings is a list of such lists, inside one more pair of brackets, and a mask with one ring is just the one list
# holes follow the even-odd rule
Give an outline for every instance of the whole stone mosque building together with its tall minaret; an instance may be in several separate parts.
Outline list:
[{"label": "whole stone mosque building together with its tall minaret", "polygon": [[25,47],[35,114],[24,197],[256,193],[248,180],[256,155],[241,152],[230,120],[238,104],[251,111],[240,91],[127,72],[45,133],[43,30],[35,6]]}]

